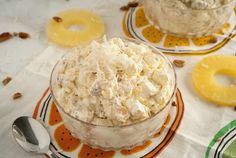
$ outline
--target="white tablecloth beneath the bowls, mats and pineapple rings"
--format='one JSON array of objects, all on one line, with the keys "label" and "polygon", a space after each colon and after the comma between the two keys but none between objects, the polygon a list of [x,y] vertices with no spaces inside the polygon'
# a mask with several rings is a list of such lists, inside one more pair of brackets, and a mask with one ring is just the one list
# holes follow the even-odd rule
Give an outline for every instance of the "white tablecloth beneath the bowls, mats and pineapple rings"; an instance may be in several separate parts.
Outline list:
[{"label": "white tablecloth beneath the bowls, mats and pineapple rings", "polygon": [[[121,5],[127,0],[1,0],[0,32],[26,31],[31,38],[18,38],[0,43],[0,80],[7,75],[13,80],[0,85],[0,158],[30,158],[13,140],[11,124],[22,115],[32,115],[36,102],[49,85],[52,65],[62,54],[48,47],[45,36],[47,20],[55,13],[68,8],[85,8],[100,14],[107,25],[107,36],[123,36],[121,29]],[[234,54],[234,42],[217,53]],[[212,54],[210,54],[212,55]],[[205,56],[174,57],[183,59],[186,66],[177,69],[178,87],[184,102],[185,114],[177,135],[160,158],[204,157],[206,146],[213,135],[226,123],[236,118],[233,108],[217,107],[197,97],[191,87],[190,72],[196,62]],[[22,92],[23,98],[13,101],[14,92]]]}]

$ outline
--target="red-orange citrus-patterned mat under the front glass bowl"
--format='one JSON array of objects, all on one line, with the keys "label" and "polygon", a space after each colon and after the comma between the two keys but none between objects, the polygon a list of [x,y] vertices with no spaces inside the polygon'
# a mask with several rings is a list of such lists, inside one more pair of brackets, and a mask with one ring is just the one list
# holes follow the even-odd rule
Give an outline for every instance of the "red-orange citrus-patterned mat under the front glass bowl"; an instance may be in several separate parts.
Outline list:
[{"label": "red-orange citrus-patterned mat under the front glass bowl", "polygon": [[63,120],[53,102],[50,90],[47,89],[39,100],[33,117],[42,121],[52,138],[50,150],[60,158],[110,158],[110,157],[155,157],[171,142],[181,123],[184,114],[184,103],[180,91],[176,93],[175,105],[171,106],[170,113],[160,131],[141,146],[131,150],[103,151],[93,149],[74,138],[63,125]]}]

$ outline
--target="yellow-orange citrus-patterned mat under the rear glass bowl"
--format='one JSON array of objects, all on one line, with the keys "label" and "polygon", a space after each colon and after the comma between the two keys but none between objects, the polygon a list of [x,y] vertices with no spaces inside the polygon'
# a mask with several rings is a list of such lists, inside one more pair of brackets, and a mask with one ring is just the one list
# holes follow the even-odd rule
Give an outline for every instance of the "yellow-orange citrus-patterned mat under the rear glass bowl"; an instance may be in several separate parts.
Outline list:
[{"label": "yellow-orange citrus-patterned mat under the rear glass bowl", "polygon": [[161,32],[145,17],[143,6],[131,8],[123,17],[123,32],[127,37],[150,43],[166,54],[201,55],[214,52],[236,35],[236,17],[232,14],[223,28],[213,35],[199,38],[179,38]]}]

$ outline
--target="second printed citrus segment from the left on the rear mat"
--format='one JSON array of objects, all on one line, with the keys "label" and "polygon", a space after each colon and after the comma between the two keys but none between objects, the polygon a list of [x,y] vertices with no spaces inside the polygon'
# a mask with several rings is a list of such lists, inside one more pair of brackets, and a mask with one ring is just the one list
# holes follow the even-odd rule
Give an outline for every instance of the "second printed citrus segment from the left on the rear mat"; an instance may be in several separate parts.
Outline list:
[{"label": "second printed citrus segment from the left on the rear mat", "polygon": [[156,29],[154,26],[149,26],[142,31],[143,36],[152,43],[158,43],[162,40],[164,33]]}]

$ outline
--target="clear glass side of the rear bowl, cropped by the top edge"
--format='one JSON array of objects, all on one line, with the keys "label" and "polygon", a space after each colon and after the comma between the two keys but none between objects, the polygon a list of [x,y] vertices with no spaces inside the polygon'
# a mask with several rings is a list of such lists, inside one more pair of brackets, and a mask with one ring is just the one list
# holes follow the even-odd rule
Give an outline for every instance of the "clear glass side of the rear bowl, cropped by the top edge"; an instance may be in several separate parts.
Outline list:
[{"label": "clear glass side of the rear bowl, cropped by the top edge", "polygon": [[235,0],[212,9],[191,9],[179,0],[143,0],[145,15],[162,32],[201,37],[219,30],[232,15]]}]

